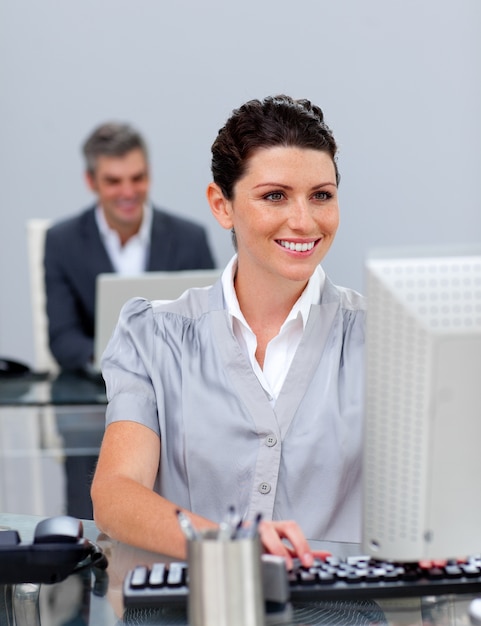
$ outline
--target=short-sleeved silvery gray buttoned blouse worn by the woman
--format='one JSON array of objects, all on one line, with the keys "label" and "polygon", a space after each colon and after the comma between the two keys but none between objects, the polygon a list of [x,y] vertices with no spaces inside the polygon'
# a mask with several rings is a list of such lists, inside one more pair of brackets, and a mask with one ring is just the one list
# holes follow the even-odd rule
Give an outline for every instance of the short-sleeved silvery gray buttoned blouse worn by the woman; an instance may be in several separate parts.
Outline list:
[{"label": "short-sleeved silvery gray buttoned blouse worn by the woman", "polygon": [[309,539],[358,542],[365,300],[326,279],[272,408],[229,324],[220,280],[124,305],[104,353],[107,424],[159,435],[156,490],[220,521],[294,519]]}]

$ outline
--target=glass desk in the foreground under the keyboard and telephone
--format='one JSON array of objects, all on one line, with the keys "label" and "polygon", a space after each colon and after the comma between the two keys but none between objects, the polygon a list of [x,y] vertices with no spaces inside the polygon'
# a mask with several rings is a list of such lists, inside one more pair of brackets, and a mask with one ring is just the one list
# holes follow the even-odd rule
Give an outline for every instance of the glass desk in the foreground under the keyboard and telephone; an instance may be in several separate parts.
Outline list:
[{"label": "glass desk in the foreground under the keyboard and telephone", "polygon": [[[30,542],[38,516],[0,514],[0,527],[15,528],[23,541]],[[182,608],[161,610],[124,611],[122,584],[129,569],[140,563],[149,564],[163,560],[159,554],[138,550],[111,541],[100,534],[92,521],[84,522],[84,535],[96,541],[109,559],[104,580],[76,574],[54,585],[41,585],[38,591],[39,611],[36,621],[28,626],[120,626],[187,624],[186,611]],[[333,554],[343,556],[344,546],[324,544]],[[0,564],[1,566],[1,564]],[[96,582],[97,589],[92,589]],[[14,586],[0,585],[0,624],[14,624],[13,608],[8,598],[18,592]],[[20,588],[21,591],[21,588]],[[15,604],[16,626],[22,622],[22,606]],[[25,597],[25,596],[23,596]],[[426,598],[393,599],[382,601],[353,602],[305,602],[294,603],[291,613],[275,621],[268,617],[266,626],[274,624],[303,624],[304,626],[469,626],[468,609],[475,596],[443,596]],[[3,603],[2,603],[3,601]],[[226,624],[226,626],[229,626]]]}]

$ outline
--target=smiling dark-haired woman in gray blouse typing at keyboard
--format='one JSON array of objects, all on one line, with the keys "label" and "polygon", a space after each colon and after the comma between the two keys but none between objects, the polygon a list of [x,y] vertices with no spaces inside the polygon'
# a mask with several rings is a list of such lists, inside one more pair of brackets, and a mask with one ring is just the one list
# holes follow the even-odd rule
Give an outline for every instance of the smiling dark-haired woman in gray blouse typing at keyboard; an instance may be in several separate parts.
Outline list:
[{"label": "smiling dark-haired woman in gray blouse typing at keyboard", "polygon": [[177,510],[208,528],[233,505],[288,563],[312,563],[306,537],[359,541],[365,306],[320,265],[336,150],[321,109],[288,96],[219,131],[207,197],[236,254],[208,289],[127,303],[104,354],[92,498],[110,536],[185,557]]}]

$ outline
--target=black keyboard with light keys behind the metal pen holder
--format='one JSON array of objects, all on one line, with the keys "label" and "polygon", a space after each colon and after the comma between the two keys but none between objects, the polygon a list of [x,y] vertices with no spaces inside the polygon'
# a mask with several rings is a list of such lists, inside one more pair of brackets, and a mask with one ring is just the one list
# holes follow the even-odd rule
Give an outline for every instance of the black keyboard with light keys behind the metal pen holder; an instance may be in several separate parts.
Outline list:
[{"label": "black keyboard with light keys behind the metal pen holder", "polygon": [[[309,600],[376,600],[481,592],[481,556],[424,567],[419,563],[380,561],[365,556],[297,564],[286,572],[282,559],[262,557],[267,605]],[[186,563],[139,565],[123,587],[126,608],[157,608],[186,604]]]}]

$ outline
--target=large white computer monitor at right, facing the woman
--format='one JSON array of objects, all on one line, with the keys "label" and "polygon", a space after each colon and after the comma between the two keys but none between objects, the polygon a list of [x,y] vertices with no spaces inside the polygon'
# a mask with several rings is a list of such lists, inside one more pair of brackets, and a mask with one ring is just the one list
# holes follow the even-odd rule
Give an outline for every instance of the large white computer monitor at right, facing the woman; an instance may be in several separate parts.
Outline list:
[{"label": "large white computer monitor at right, facing the woman", "polygon": [[363,550],[481,552],[481,246],[366,262]]}]

